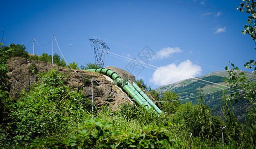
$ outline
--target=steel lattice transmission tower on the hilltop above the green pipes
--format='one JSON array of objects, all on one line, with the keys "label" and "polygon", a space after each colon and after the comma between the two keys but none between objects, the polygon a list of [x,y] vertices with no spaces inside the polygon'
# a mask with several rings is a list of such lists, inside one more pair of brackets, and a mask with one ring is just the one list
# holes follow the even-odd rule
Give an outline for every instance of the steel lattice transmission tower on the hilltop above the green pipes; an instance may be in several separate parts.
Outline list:
[{"label": "steel lattice transmission tower on the hilltop above the green pipes", "polygon": [[94,57],[95,57],[95,63],[100,66],[101,68],[104,67],[104,58],[105,53],[107,53],[107,49],[109,47],[105,43],[105,41],[100,41],[99,39],[89,39],[91,46],[94,48]]}]

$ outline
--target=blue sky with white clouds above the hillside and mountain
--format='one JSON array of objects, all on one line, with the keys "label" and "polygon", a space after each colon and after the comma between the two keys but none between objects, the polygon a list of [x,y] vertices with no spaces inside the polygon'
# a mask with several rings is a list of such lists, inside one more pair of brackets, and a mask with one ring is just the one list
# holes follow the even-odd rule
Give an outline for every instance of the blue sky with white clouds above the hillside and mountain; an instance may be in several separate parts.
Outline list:
[{"label": "blue sky with white clouds above the hillside and mountain", "polygon": [[[55,35],[66,60],[79,67],[95,62],[89,39],[96,36],[112,52],[105,66],[125,69],[153,89],[223,71],[229,61],[245,70],[255,59],[255,42],[241,33],[248,16],[205,8],[236,10],[242,0],[164,1],[204,7],[149,0],[2,0],[0,28],[5,45],[26,46],[33,37],[45,45]],[[26,50],[33,53],[32,42]],[[36,55],[51,51],[52,43],[35,45]],[[60,55],[55,42],[54,52]],[[132,68],[134,60],[144,64]]]}]

